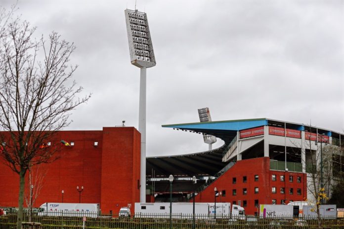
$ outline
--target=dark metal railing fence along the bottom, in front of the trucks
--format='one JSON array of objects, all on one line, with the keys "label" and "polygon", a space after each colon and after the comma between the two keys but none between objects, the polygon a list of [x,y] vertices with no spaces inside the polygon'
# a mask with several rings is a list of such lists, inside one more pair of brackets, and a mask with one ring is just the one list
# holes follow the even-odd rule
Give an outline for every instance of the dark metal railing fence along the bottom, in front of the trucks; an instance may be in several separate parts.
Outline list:
[{"label": "dark metal railing fence along the bottom, in front of the trucks", "polygon": [[[56,213],[58,214],[58,213]],[[38,216],[32,217],[32,222],[41,223],[43,229],[72,229],[83,228],[83,218],[78,216]],[[0,229],[15,229],[16,214],[0,217]],[[94,215],[86,217],[85,229],[193,229],[193,215],[172,214],[140,214],[132,217],[118,215]],[[24,216],[28,221],[28,216]],[[344,219],[322,219],[321,224],[328,229],[344,229]],[[254,216],[229,219],[220,215],[195,215],[195,229],[311,229],[318,228],[315,219],[278,217],[261,219]]]}]

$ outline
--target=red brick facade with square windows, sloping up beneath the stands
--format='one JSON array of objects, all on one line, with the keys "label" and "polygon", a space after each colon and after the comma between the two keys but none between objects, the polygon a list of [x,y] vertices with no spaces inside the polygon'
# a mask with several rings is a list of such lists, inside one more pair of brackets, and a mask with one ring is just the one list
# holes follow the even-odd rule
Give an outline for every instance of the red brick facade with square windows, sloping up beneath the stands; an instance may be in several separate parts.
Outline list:
[{"label": "red brick facade with square windows, sloping up beneath the stands", "polygon": [[[275,181],[272,175],[275,175]],[[287,179],[282,182],[280,176],[285,176]],[[293,182],[289,181],[289,176],[293,177]],[[300,183],[298,177],[300,177]],[[216,197],[216,202],[241,205],[245,208],[246,214],[254,215],[258,211],[257,204],[272,204],[273,200],[280,204],[281,200],[289,203],[290,200],[306,199],[305,181],[305,173],[270,170],[269,157],[240,160],[207,189],[200,192],[195,201],[214,202],[214,188],[216,187],[217,191],[222,193],[222,196]],[[273,193],[273,187],[276,188],[276,193]],[[281,193],[281,188],[285,188],[285,193]],[[293,189],[293,194],[289,193],[289,189]],[[301,191],[300,194],[298,190]]]}]

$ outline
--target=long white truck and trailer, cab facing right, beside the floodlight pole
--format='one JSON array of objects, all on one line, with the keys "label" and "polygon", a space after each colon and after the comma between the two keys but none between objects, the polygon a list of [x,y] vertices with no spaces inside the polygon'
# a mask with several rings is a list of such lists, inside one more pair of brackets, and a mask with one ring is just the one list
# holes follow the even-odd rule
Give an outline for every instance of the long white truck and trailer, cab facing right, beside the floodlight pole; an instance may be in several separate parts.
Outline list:
[{"label": "long white truck and trailer, cab facing right, beside the floodlight pole", "polygon": [[[195,218],[215,218],[214,203],[195,203]],[[231,214],[233,212],[233,214]],[[135,217],[144,218],[169,218],[170,203],[135,203]],[[192,218],[193,203],[172,203],[172,218]],[[230,203],[216,203],[216,218],[245,218],[245,210],[239,205],[233,205],[231,209]]]}]

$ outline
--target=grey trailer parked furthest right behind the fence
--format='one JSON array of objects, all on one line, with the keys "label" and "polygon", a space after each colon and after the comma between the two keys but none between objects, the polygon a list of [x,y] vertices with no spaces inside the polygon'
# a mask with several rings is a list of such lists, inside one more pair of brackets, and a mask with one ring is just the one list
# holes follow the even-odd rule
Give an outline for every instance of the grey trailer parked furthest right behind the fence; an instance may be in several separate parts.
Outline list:
[{"label": "grey trailer parked furthest right behind the fence", "polygon": [[[317,218],[316,206],[308,205],[303,206],[303,216],[305,218]],[[337,206],[335,204],[319,205],[320,218],[336,219],[337,218]]]}]

